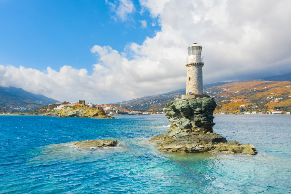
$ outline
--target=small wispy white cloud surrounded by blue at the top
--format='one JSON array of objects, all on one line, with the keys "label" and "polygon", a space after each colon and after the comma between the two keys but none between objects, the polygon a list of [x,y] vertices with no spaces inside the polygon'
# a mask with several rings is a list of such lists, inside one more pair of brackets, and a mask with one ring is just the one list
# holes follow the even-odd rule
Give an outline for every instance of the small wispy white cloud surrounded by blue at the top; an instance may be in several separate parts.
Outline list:
[{"label": "small wispy white cloud surrounded by blue at the top", "polygon": [[[110,6],[110,10],[116,13],[117,17],[122,21],[128,19],[128,16],[135,11],[134,4],[130,0],[119,0],[114,1],[114,3],[109,0],[105,0],[105,2]],[[116,20],[116,17],[113,17]]]}]

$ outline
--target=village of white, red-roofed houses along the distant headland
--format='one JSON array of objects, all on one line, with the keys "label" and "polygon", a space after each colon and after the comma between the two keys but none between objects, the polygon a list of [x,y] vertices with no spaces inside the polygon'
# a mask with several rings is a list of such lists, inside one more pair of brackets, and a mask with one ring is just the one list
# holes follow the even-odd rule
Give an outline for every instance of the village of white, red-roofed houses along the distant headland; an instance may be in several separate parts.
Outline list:
[{"label": "village of white, red-roofed houses along the distant headland", "polygon": [[[76,103],[67,103],[67,104],[62,104],[62,103],[53,103],[53,104],[59,104],[57,107],[53,108],[51,111],[60,111],[64,106],[79,106],[79,102]],[[86,103],[86,106],[91,107],[91,108],[97,108],[100,107],[104,110],[104,112],[107,115],[118,115],[118,114],[164,114],[164,112],[151,112],[151,111],[135,111],[135,110],[126,110],[123,109],[122,106],[120,107],[111,105],[111,104],[93,104],[93,103]],[[49,110],[49,109],[47,109]]]}]

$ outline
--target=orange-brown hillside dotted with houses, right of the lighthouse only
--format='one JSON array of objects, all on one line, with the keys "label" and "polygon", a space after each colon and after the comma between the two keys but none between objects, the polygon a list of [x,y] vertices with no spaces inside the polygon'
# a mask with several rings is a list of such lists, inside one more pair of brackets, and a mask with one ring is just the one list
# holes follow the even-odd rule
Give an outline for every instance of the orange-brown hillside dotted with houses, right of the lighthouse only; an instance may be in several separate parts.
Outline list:
[{"label": "orange-brown hillside dotted with houses, right of the lighthouse only", "polygon": [[217,113],[291,110],[289,81],[243,80],[210,87],[204,92],[217,102]]}]

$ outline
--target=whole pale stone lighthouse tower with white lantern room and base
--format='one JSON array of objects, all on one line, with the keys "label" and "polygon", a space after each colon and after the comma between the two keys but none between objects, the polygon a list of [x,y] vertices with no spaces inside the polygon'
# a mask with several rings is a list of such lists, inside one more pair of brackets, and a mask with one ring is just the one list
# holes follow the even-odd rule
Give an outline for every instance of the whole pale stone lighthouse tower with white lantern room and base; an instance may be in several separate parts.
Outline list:
[{"label": "whole pale stone lighthouse tower with white lantern room and base", "polygon": [[182,95],[182,98],[208,97],[203,94],[202,67],[204,62],[201,51],[202,46],[195,42],[188,47],[186,95]]}]

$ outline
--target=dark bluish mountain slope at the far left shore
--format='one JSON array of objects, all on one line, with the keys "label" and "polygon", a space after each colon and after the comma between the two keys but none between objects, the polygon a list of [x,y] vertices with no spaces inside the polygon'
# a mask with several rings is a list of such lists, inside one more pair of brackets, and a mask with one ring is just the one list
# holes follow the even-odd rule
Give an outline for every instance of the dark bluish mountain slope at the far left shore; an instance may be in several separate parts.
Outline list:
[{"label": "dark bluish mountain slope at the far left shore", "polygon": [[59,101],[21,88],[0,87],[0,112],[31,111],[56,102]]}]

